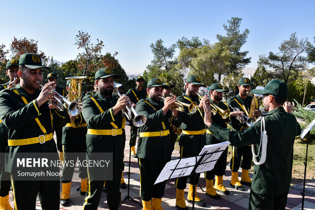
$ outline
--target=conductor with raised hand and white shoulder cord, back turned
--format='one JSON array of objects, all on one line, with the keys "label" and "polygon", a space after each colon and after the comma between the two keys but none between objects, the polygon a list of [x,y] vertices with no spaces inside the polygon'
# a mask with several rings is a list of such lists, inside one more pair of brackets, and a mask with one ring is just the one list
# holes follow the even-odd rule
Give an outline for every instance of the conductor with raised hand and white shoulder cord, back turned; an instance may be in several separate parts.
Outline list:
[{"label": "conductor with raised hand and white shoulder cord, back turned", "polygon": [[[293,106],[286,102],[288,86],[285,82],[271,80],[265,89],[251,92],[263,95],[264,108],[268,111],[253,126],[242,132],[222,128],[212,122],[208,104],[204,104],[205,124],[219,141],[228,140],[234,146],[254,144],[258,157],[255,158],[249,209],[285,209],[292,176],[294,139],[301,128],[295,116],[290,114]],[[267,135],[262,132],[264,128]],[[264,145],[266,150],[262,149]]]}]

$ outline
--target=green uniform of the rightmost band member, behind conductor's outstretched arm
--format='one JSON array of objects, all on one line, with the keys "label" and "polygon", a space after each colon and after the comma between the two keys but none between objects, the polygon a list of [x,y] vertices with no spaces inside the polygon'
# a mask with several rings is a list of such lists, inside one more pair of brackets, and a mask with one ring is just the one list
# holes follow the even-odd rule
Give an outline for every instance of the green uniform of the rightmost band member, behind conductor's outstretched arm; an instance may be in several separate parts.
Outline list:
[{"label": "green uniform of the rightmost band member, behind conductor's outstretched arm", "polygon": [[[248,83],[246,83],[246,84],[248,84]],[[249,84],[250,84],[250,81],[249,81]],[[233,96],[232,98],[228,99],[227,103],[229,106],[233,107],[234,109],[239,109],[239,111],[243,111],[244,114],[247,116],[246,112],[249,112],[252,100],[253,100],[252,96],[247,95],[247,97],[245,99],[241,99],[241,97],[238,94],[238,95]],[[243,105],[245,106],[246,110],[244,110]],[[244,129],[246,127],[246,124],[241,124],[237,120],[236,117],[231,117],[230,125],[238,131],[241,131],[242,129]],[[248,145],[233,146],[232,151],[233,151],[233,153],[232,153],[232,158],[231,158],[231,162],[230,162],[231,171],[233,171],[233,172],[238,171],[242,158],[243,158],[243,160],[242,160],[241,168],[245,169],[245,170],[249,170],[251,160],[253,158],[253,154],[251,154],[250,145],[249,146]]]}]

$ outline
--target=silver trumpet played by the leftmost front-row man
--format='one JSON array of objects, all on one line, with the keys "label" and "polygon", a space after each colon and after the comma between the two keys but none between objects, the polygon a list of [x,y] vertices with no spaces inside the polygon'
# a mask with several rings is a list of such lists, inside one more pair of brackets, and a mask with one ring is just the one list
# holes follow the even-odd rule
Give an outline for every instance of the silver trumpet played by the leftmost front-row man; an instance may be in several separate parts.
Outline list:
[{"label": "silver trumpet played by the leftmost front-row man", "polygon": [[[37,83],[42,88],[44,87],[44,85],[42,85],[40,83],[40,81],[37,81]],[[56,95],[54,95],[52,97],[57,100],[58,104],[55,104],[55,103],[53,103],[53,104],[56,105],[58,109],[62,110],[62,101],[64,101],[66,103],[66,105],[68,106],[68,114],[69,114],[69,116],[77,116],[78,114],[81,113],[82,108],[83,108],[82,102],[78,102],[78,101],[71,102],[68,99],[66,99],[65,97],[61,96],[54,89],[51,92],[52,93],[57,93]],[[59,104],[61,104],[61,106]]]}]

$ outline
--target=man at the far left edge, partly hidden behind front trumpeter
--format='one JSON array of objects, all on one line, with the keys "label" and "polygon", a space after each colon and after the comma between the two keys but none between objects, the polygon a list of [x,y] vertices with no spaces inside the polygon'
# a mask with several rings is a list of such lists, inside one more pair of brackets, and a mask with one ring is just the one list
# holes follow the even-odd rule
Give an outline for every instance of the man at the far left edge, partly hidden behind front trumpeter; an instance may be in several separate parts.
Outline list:
[{"label": "man at the far left edge, partly hidden behind front trumpeter", "polygon": [[[10,81],[0,85],[0,90],[14,87],[20,81],[20,78],[17,76],[19,70],[19,61],[17,59],[8,61],[6,68],[6,73]],[[5,171],[5,154],[7,146],[7,127],[0,121],[0,209],[11,210],[12,207],[9,204],[9,191],[11,188],[10,173]]]}]

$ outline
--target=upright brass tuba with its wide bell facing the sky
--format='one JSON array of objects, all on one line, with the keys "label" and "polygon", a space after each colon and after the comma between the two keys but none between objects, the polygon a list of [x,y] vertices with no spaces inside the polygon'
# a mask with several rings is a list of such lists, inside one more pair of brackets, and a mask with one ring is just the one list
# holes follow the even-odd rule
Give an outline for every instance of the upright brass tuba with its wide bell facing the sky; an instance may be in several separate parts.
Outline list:
[{"label": "upright brass tuba with its wide bell facing the sky", "polygon": [[[78,112],[82,111],[82,102],[81,102],[81,87],[82,87],[82,81],[86,78],[85,76],[75,76],[75,77],[66,77],[65,79],[69,79],[70,85],[69,85],[69,101],[73,102],[76,101],[78,103],[80,110]],[[68,109],[69,111],[69,109]],[[69,113],[69,112],[68,112]],[[70,115],[70,114],[69,114]],[[77,114],[76,119],[70,121],[71,126],[73,128],[78,128],[80,124],[82,123],[82,116]]]}]

